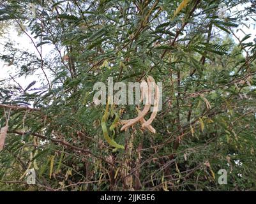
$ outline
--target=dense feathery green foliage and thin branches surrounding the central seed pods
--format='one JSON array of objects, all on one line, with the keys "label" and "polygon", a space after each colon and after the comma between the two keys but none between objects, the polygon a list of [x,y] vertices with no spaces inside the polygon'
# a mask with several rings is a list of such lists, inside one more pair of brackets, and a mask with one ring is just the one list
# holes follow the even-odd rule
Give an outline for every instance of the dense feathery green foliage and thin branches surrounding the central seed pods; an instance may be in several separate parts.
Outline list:
[{"label": "dense feathery green foliage and thin branches surrounding the central seed pods", "polygon": [[[222,17],[220,3],[240,10]],[[0,8],[0,33],[12,24],[36,51],[6,43],[0,52],[16,72],[0,80],[1,127],[10,113],[2,191],[256,189],[255,41],[236,35],[255,22],[255,1],[10,0]],[[53,48],[47,56],[45,45]],[[28,87],[8,83],[36,71]],[[156,134],[137,125],[117,131],[125,149],[113,152],[93,85],[147,75],[163,83]],[[116,108],[122,119],[137,115],[135,106]],[[30,168],[36,185],[26,184]],[[220,169],[227,185],[218,184]]]}]

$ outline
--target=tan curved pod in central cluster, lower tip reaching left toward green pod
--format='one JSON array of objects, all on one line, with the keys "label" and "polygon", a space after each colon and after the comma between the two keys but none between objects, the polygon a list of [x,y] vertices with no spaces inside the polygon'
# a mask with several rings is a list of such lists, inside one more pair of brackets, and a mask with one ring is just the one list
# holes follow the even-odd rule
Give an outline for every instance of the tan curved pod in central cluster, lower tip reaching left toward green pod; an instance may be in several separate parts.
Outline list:
[{"label": "tan curved pod in central cluster, lower tip reaching left toward green pod", "polygon": [[[149,82],[149,78],[147,78],[147,84],[149,84],[148,82]],[[144,106],[144,109],[137,117],[135,117],[135,119],[129,120],[129,122],[121,128],[121,131],[128,129],[130,126],[133,126],[136,122],[140,121],[140,119],[144,118],[144,116],[147,114],[147,112],[149,112],[150,107],[151,107],[151,104],[149,103],[150,98],[151,98],[151,90],[149,90],[150,89],[149,86],[144,87],[143,89],[146,93],[146,105]],[[122,121],[121,121],[121,123],[122,123]]]}]

